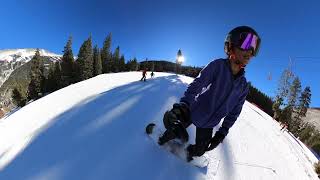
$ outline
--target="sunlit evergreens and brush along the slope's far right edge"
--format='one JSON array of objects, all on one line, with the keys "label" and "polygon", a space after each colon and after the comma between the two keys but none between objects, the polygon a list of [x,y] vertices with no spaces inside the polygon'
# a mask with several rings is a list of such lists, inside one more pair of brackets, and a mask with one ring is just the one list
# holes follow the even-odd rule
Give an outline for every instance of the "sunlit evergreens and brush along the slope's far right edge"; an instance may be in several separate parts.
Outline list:
[{"label": "sunlit evergreens and brush along the slope's far right edge", "polygon": [[310,86],[302,88],[298,76],[290,70],[283,71],[278,92],[273,103],[274,119],[286,124],[288,131],[320,154],[320,133],[316,128],[302,120],[306,117],[311,103]]}]

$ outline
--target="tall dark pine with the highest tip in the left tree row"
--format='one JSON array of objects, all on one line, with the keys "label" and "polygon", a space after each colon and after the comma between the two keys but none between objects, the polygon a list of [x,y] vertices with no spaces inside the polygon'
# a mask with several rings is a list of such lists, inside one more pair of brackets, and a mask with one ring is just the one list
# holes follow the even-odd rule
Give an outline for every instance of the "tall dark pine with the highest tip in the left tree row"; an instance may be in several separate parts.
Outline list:
[{"label": "tall dark pine with the highest tip in the left tree row", "polygon": [[111,72],[112,59],[111,59],[111,33],[106,37],[101,50],[102,72]]}]

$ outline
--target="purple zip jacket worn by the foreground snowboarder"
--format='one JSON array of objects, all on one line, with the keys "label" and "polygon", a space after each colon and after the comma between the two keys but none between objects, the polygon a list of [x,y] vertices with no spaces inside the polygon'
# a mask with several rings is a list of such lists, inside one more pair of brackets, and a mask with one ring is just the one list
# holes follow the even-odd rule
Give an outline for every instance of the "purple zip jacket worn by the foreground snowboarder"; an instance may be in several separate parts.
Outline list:
[{"label": "purple zip jacket worn by the foreground snowboarder", "polygon": [[219,131],[228,134],[249,92],[244,73],[241,70],[234,76],[228,59],[211,61],[201,70],[180,100],[189,105],[196,127],[212,128],[224,118]]}]

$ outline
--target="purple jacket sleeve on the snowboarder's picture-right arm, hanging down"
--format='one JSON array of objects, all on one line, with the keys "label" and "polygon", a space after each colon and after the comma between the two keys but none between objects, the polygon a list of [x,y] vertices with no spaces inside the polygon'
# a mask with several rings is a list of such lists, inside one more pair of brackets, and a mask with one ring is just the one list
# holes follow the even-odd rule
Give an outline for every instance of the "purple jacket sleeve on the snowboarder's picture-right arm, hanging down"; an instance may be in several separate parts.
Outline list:
[{"label": "purple jacket sleeve on the snowboarder's picture-right arm, hanging down", "polygon": [[223,135],[227,135],[229,132],[229,129],[233,126],[233,124],[236,122],[237,118],[239,117],[243,104],[246,100],[247,94],[249,92],[249,86],[245,87],[245,90],[243,91],[242,95],[239,98],[238,104],[232,109],[232,111],[224,118],[222,126],[219,128],[219,132]]}]

